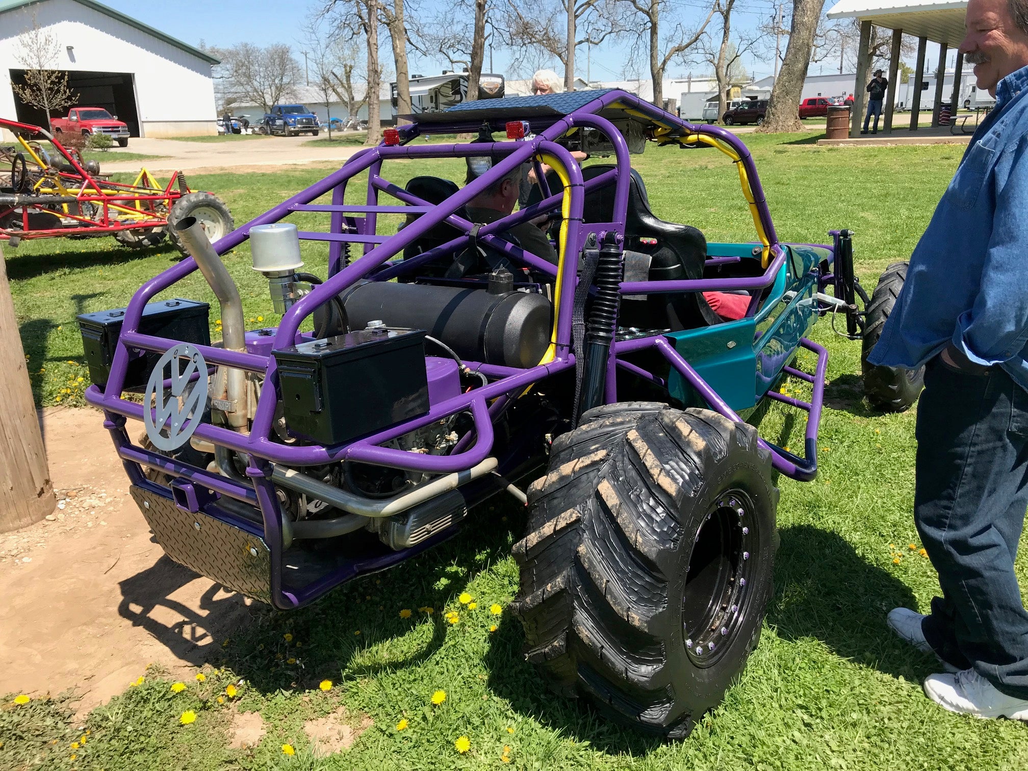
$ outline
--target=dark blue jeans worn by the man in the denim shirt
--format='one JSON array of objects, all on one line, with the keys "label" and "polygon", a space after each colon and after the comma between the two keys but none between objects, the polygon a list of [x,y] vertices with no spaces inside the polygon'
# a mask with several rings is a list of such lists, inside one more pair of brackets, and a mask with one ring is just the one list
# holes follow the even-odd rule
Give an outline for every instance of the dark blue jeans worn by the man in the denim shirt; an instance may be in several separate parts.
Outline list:
[{"label": "dark blue jeans worn by the man in the denim shirt", "polygon": [[1028,613],[1014,558],[1028,507],[1028,392],[999,367],[928,362],[917,411],[914,519],[942,597],[934,651],[1028,699]]}]

